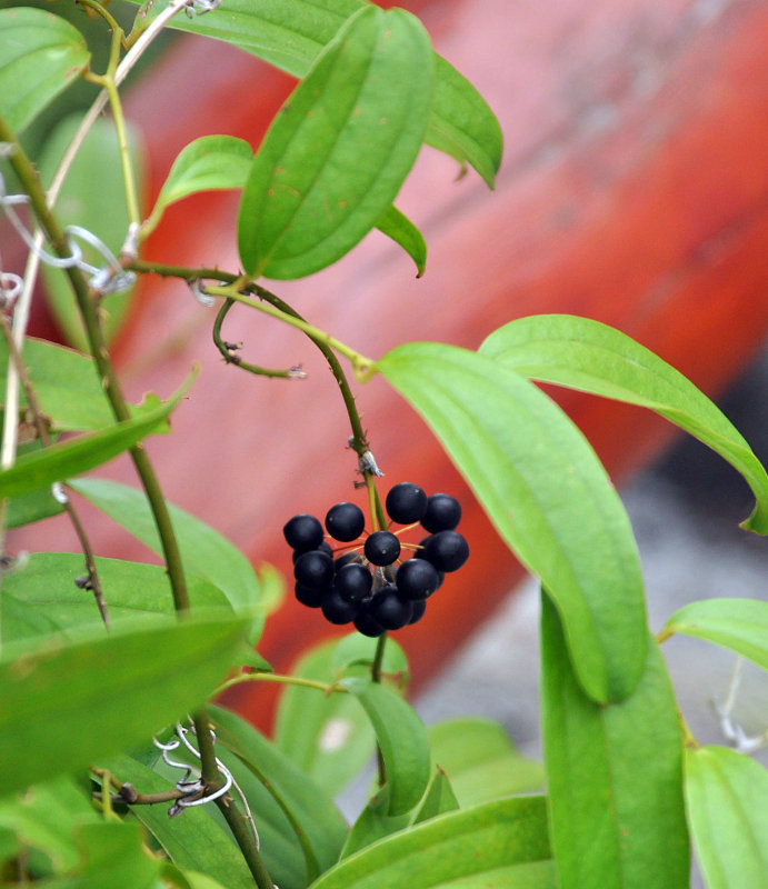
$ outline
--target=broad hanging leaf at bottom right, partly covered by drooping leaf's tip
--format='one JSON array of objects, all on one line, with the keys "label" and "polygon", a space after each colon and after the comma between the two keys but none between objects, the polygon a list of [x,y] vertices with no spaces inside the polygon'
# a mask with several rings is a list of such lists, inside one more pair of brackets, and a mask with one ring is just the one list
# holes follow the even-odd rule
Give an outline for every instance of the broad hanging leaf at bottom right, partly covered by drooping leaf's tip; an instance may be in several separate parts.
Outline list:
[{"label": "broad hanging leaf at bottom right, partly covered by drooping leaf's tip", "polygon": [[560,889],[687,889],[682,741],[656,642],[634,695],[602,707],[576,680],[542,597],[541,696],[551,842]]}]

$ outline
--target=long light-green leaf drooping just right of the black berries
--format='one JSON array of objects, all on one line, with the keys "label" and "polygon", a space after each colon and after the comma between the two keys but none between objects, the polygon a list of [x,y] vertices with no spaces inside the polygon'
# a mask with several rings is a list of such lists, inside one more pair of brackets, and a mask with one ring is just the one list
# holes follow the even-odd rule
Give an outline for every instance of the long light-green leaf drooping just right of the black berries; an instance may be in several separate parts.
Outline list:
[{"label": "long light-green leaf drooping just right of the black berries", "polygon": [[642,577],[629,519],[584,436],[540,389],[486,356],[411,342],[377,368],[550,591],[589,697],[630,695],[647,648]]}]

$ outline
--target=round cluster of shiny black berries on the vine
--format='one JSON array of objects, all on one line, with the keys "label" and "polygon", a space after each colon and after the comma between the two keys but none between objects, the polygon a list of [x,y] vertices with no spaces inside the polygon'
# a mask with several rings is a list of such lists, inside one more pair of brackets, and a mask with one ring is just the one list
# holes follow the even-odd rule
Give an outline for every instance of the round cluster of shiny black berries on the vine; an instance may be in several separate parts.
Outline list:
[{"label": "round cluster of shiny black berries on the vine", "polygon": [[[293,516],[282,529],[293,549],[296,598],[320,608],[331,623],[355,623],[365,636],[416,623],[446,572],[457,571],[469,558],[469,546],[456,531],[461,519],[456,498],[427,497],[418,485],[402,481],[389,491],[385,506],[392,522],[420,522],[429,536],[409,546],[386,530],[361,541],[366,518],[347,502],[331,507],[326,516],[328,536],[346,546],[332,549],[315,516]],[[403,549],[415,555],[402,561]]]}]

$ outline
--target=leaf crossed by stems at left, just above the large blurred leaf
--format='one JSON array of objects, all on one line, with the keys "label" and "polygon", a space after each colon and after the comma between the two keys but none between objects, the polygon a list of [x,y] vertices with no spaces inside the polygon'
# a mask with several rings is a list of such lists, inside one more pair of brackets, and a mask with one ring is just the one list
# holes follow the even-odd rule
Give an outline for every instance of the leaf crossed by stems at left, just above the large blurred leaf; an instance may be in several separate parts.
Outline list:
[{"label": "leaf crossed by stems at left, just above the large blurred leaf", "polygon": [[[173,615],[168,575],[162,566],[96,559],[112,623],[138,617]],[[82,555],[74,552],[36,552],[2,581],[0,627],[4,641],[37,635],[42,613],[52,629],[67,631],[101,618],[93,593],[79,589],[74,579],[84,573]],[[211,583],[189,578],[189,601],[193,610],[227,609],[227,598]],[[22,608],[23,606],[23,608]]]}]

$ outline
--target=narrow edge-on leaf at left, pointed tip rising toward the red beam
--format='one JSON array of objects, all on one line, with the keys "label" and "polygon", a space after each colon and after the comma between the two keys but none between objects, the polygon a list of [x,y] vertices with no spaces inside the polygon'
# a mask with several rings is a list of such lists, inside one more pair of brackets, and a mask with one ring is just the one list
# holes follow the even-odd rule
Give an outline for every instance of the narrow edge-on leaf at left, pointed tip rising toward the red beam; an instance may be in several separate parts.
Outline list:
[{"label": "narrow edge-on leaf at left, pointed tip rising toward the red beam", "polygon": [[87,432],[19,458],[10,469],[0,471],[0,497],[18,497],[54,481],[79,476],[132,448],[166,420],[192,379],[190,377],[179,392],[160,407],[142,411],[134,419],[114,423],[97,432]]}]

